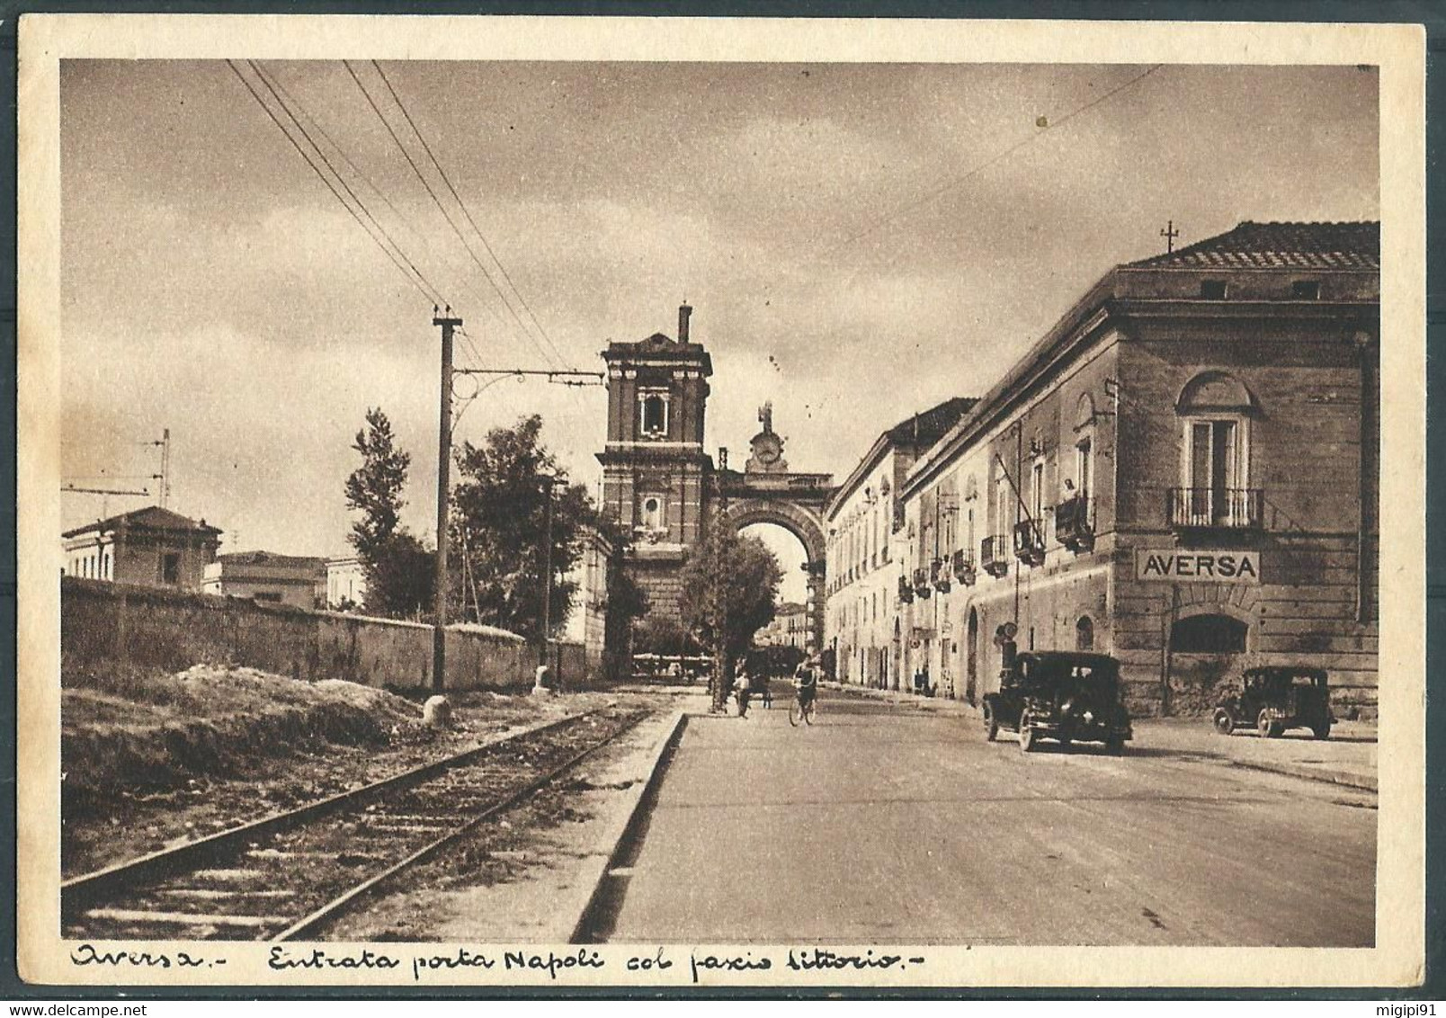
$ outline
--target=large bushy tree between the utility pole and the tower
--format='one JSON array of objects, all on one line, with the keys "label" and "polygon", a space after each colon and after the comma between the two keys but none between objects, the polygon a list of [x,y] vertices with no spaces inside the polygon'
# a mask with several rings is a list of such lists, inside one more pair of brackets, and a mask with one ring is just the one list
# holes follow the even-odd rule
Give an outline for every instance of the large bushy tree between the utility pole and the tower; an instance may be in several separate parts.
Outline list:
[{"label": "large bushy tree between the utility pole and the tower", "polygon": [[541,434],[542,418],[534,414],[512,428],[493,428],[483,445],[463,442],[450,526],[453,549],[460,552],[451,577],[458,617],[528,639],[542,636],[547,500],[552,500],[554,632],[567,622],[577,593],[578,584],[565,577],[581,558],[581,528],[596,521],[584,486],[554,490],[551,479],[562,471]]}]

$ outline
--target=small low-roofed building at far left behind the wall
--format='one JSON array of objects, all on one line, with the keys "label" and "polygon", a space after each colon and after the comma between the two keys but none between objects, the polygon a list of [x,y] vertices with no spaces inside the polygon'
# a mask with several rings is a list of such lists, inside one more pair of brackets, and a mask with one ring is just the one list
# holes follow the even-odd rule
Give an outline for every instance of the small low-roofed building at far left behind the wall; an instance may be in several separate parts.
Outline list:
[{"label": "small low-roofed building at far left behind the wall", "polygon": [[221,545],[218,528],[161,506],[100,519],[61,538],[68,576],[179,590],[201,590]]}]

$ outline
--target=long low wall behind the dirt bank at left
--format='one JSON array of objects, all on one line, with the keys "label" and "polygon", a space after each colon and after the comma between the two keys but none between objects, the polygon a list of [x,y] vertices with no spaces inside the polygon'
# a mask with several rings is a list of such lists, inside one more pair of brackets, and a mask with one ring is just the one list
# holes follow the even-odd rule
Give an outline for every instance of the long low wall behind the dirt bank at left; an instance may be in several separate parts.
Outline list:
[{"label": "long low wall behind the dirt bank at left", "polygon": [[[584,681],[583,648],[560,648],[568,684]],[[432,628],[307,612],[283,604],[61,577],[61,668],[67,683],[117,664],[181,671],[233,664],[298,680],[428,688]],[[447,629],[448,690],[531,688],[536,655],[490,626]]]}]

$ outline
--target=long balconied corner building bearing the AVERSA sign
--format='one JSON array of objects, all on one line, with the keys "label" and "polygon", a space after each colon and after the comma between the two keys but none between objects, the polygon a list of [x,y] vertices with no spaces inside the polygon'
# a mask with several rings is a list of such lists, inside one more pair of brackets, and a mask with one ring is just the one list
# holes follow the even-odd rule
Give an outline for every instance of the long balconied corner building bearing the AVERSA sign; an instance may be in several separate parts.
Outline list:
[{"label": "long balconied corner building bearing the AVERSA sign", "polygon": [[1115,655],[1141,713],[1207,710],[1252,662],[1374,713],[1378,312],[1375,223],[1109,272],[898,486],[904,668],[977,703],[1014,622]]}]

